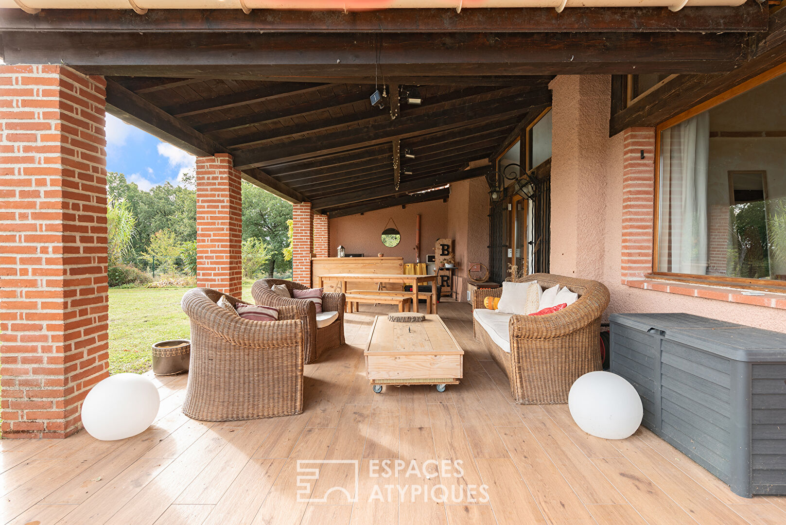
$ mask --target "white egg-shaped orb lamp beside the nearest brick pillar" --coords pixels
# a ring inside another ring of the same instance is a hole
[[[158,389],[145,376],[119,373],[87,393],[82,424],[95,439],[115,441],[145,431],[156,419]]]

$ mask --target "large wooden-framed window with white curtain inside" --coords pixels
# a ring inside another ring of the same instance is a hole
[[[656,128],[652,277],[786,292],[784,73]]]

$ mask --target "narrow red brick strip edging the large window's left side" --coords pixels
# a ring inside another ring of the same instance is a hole
[[[655,128],[623,131],[623,252],[622,281],[636,281],[652,272],[652,231],[655,220]],[[641,158],[644,152],[644,158]]]

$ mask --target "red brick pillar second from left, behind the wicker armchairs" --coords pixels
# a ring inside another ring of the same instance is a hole
[[[196,285],[241,297],[241,172],[229,153],[196,158]]]

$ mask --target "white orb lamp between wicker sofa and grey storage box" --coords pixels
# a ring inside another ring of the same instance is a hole
[[[625,439],[641,424],[644,407],[632,384],[610,372],[579,377],[567,395],[573,420],[587,434],[603,439]]]

